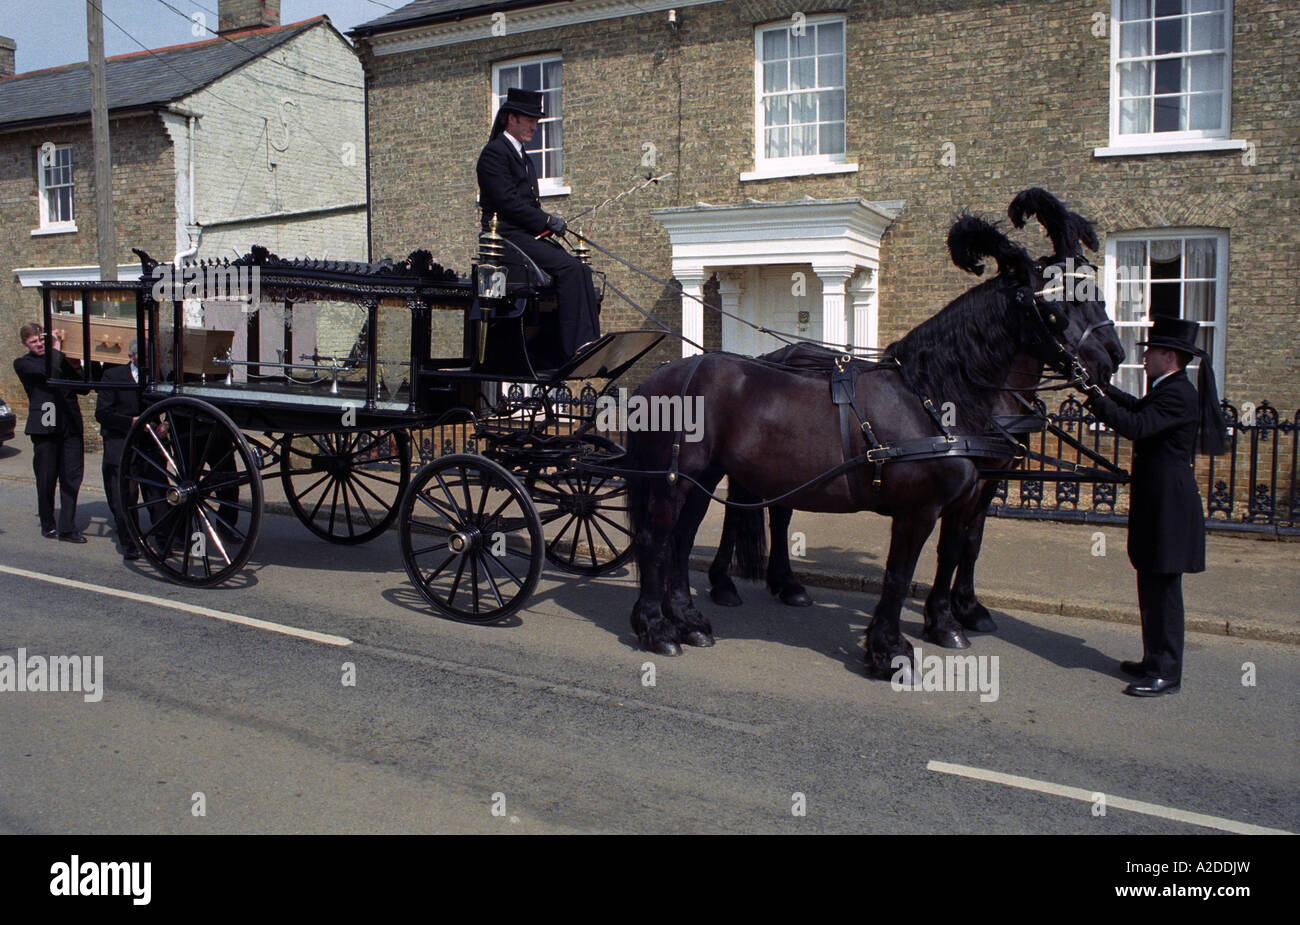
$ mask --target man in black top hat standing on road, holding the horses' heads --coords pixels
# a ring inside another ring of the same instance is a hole
[[[1114,386],[1088,386],[1087,407],[1134,442],[1128,501],[1128,561],[1138,570],[1141,661],[1121,669],[1136,678],[1134,696],[1158,696],[1183,678],[1183,573],[1205,570],[1205,511],[1196,488],[1200,451],[1221,453],[1225,429],[1210,360],[1196,347],[1197,323],[1156,317],[1143,365],[1150,383],[1143,398]],[[1192,356],[1201,359],[1200,394],[1187,378]]]

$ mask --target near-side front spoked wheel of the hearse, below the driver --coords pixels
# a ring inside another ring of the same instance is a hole
[[[416,473],[398,518],[407,576],[436,609],[491,624],[519,609],[542,573],[542,522],[510,470],[455,453]]]

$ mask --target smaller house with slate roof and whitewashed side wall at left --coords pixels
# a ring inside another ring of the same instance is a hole
[[[352,47],[326,17],[281,26],[278,0],[222,0],[220,12],[217,36],[107,61],[120,278],[139,274],[131,248],[164,261],[234,259],[254,243],[363,259],[365,125]],[[0,40],[9,356],[21,352],[18,326],[40,317],[42,279],[99,278],[88,110],[84,62],[14,75],[13,43]],[[25,409],[8,361],[0,394]]]

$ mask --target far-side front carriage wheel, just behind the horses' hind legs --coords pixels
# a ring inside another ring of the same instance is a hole
[[[598,434],[582,440],[604,455],[621,447]],[[546,533],[546,560],[581,576],[598,576],[632,559],[628,483],[614,475],[566,469],[529,474],[528,490]]]

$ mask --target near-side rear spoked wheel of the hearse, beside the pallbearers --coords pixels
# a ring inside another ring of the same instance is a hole
[[[126,434],[118,487],[131,540],[178,585],[207,587],[248,561],[261,529],[257,459],[234,421],[172,398]]]

